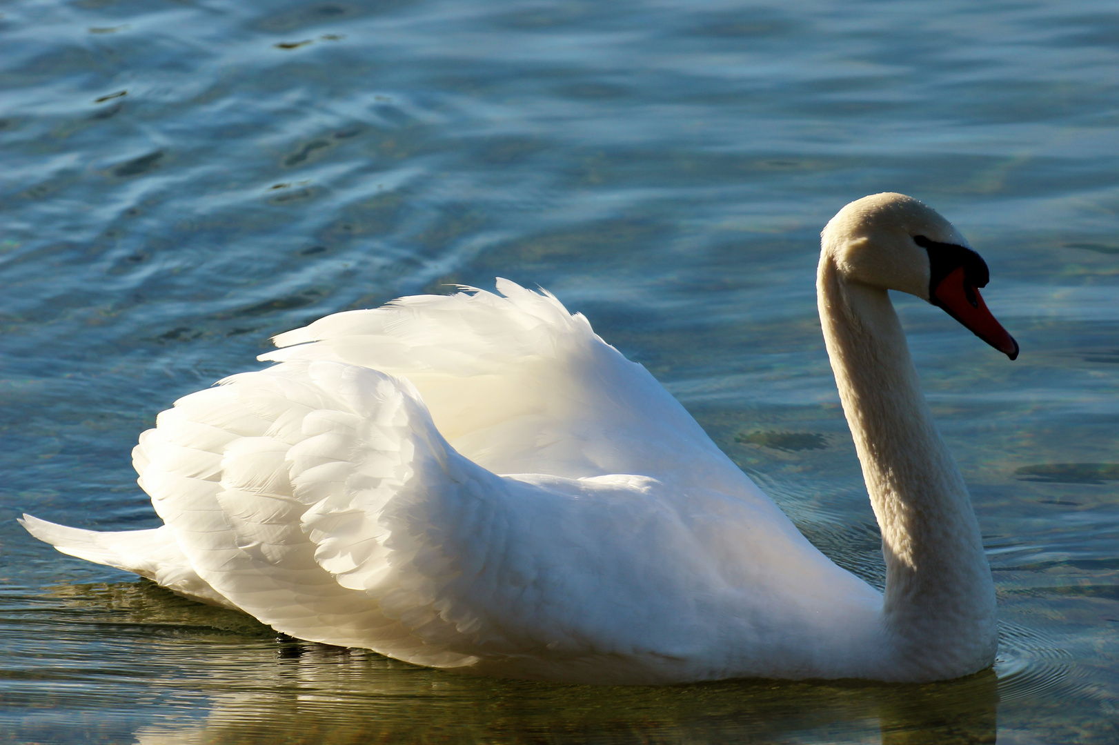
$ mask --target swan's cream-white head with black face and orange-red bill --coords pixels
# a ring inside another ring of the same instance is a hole
[[[875,194],[836,214],[821,234],[846,282],[928,300],[1010,359],[1018,342],[987,310],[987,264],[937,210],[903,194]]]

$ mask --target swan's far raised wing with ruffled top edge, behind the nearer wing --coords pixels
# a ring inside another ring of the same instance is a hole
[[[407,378],[439,431],[495,473],[747,480],[649,372],[548,293],[417,295],[275,338],[265,360],[329,360]],[[765,499],[762,497],[762,499]]]

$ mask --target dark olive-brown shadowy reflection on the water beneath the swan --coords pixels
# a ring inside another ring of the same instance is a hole
[[[181,600],[148,582],[56,586],[39,598],[60,602],[54,615],[69,629],[59,635],[81,634],[97,650],[102,671],[97,691],[58,695],[54,706],[103,708],[147,690],[161,716],[132,733],[144,744],[940,745],[994,743],[996,736],[998,678],[990,670],[927,686],[568,686],[472,678],[276,638],[248,616]]]

